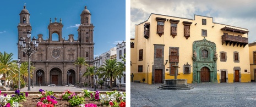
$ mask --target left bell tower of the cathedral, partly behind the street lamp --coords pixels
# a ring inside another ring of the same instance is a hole
[[[18,40],[19,38],[26,38],[28,31],[32,31],[32,27],[30,25],[30,14],[29,11],[26,9],[26,5],[24,5],[23,10],[20,12],[20,22],[18,24]],[[28,43],[28,39],[25,40]],[[28,58],[25,53],[21,52],[18,45],[18,57],[20,57],[21,61],[28,61]]]

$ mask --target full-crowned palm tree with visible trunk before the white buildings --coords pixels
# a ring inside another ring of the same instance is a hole
[[[114,73],[118,70],[117,60],[116,59],[107,59],[104,62],[104,65],[101,65],[99,71],[102,73],[99,75],[100,78],[108,77],[110,78],[110,89],[112,89],[112,81],[115,76]]]

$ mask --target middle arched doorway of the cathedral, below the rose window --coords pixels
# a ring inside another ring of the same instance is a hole
[[[55,84],[57,86],[62,85],[62,73],[63,70],[59,69],[59,67],[53,67],[50,69],[50,84]]]

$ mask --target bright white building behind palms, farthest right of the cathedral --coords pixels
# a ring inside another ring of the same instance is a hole
[[[120,44],[119,43],[117,44],[117,51],[116,52],[117,52],[117,57],[116,57],[117,62],[124,63],[122,61],[122,57],[126,58],[124,56],[124,54],[126,54],[126,42],[125,41],[123,41]],[[125,86],[126,85],[126,71],[123,71],[123,74],[124,74],[124,77],[121,78],[121,85]],[[120,84],[119,78],[116,78],[116,82],[117,82],[117,84]]]

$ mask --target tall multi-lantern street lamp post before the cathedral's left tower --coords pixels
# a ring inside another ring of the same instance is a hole
[[[30,43],[30,37],[31,37],[31,32],[30,31],[28,31],[28,32],[26,32],[27,33],[27,38],[28,38],[28,47],[26,47],[26,42],[25,42],[25,39],[26,39],[26,37],[20,37],[20,39],[19,39],[19,45],[20,45],[20,50],[21,50],[21,52],[24,52],[24,53],[26,53],[27,55],[28,55],[28,57],[29,57],[29,69],[28,69],[28,72],[29,72],[29,86],[28,86],[28,91],[30,91],[30,57],[31,57],[31,55],[33,54],[33,53],[35,53],[36,52],[36,50],[37,50],[37,47],[38,47],[38,45],[39,45],[39,42],[38,41],[36,41],[36,38],[35,37],[33,37],[32,38],[32,46],[34,46],[34,47],[31,47],[31,43]]]

